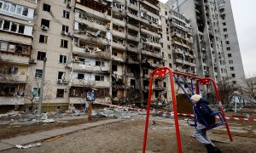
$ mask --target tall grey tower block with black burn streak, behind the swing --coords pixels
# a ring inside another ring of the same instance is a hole
[[[169,0],[170,8],[191,20],[199,77],[242,84],[244,71],[230,0]],[[238,83],[239,82],[239,83]]]

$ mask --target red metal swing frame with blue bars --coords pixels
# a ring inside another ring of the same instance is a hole
[[[206,130],[210,130],[214,127],[218,127],[220,125],[224,125],[227,128],[227,132],[230,138],[230,141],[232,141],[232,136],[230,133],[230,127],[228,125],[228,122],[225,119],[224,115],[224,109],[218,94],[218,89],[216,86],[216,83],[212,80],[212,78],[201,78],[201,77],[195,77],[191,76],[185,73],[172,71],[169,67],[160,67],[152,71],[150,75],[150,82],[149,82],[149,89],[148,89],[148,107],[147,107],[147,116],[146,116],[146,122],[145,122],[145,131],[144,131],[144,139],[143,139],[143,153],[145,153],[146,150],[146,144],[147,144],[147,136],[148,136],[148,119],[149,119],[149,110],[150,110],[150,102],[151,102],[151,94],[152,94],[152,85],[154,78],[160,78],[160,77],[166,77],[166,75],[169,75],[170,77],[170,84],[171,84],[171,94],[172,94],[172,107],[173,107],[173,113],[174,113],[174,122],[175,122],[175,130],[176,130],[176,139],[177,139],[177,150],[179,153],[182,153],[182,147],[181,147],[181,139],[180,139],[180,133],[179,133],[179,127],[178,127],[178,120],[177,120],[177,100],[176,100],[176,94],[175,94],[175,84],[174,79],[177,82],[177,85],[182,88],[184,95],[189,99],[189,102],[191,105],[193,105],[194,115],[195,115],[195,128],[197,117],[201,117],[202,121],[206,123]],[[220,119],[220,122],[214,124],[214,125],[208,125],[207,122],[203,119],[199,111],[195,108],[195,105],[192,103],[189,94],[187,94],[186,90],[183,88],[182,84],[179,82],[178,77],[181,77],[183,82],[186,84],[186,86],[189,88],[190,92],[194,94],[194,90],[196,91],[196,94],[200,94],[200,85],[209,85],[212,82],[213,88],[215,90],[216,97],[218,99],[218,105],[219,110],[217,112],[212,113],[212,116],[218,116]],[[186,81],[187,79],[185,77],[189,77],[191,80],[191,83]],[[174,78],[174,79],[173,79]],[[195,88],[193,84],[193,80],[195,81]],[[196,113],[195,113],[196,112]],[[198,116],[196,116],[196,114]]]

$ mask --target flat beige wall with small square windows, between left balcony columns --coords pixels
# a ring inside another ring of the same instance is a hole
[[[47,58],[45,62],[45,85],[44,94],[47,97],[43,101],[44,103],[64,103],[68,104],[68,90],[67,83],[58,83],[59,71],[65,72],[65,80],[70,82],[70,70],[65,66],[70,60],[70,53],[72,50],[71,37],[61,35],[62,26],[68,26],[68,31],[73,33],[73,8],[67,8],[67,3],[64,1],[39,1],[37,8],[37,17],[35,21],[34,31],[33,31],[33,42],[32,42],[32,55],[31,59],[33,62],[29,66],[29,77],[27,80],[26,91],[32,90],[32,88],[40,87],[41,79],[35,77],[36,69],[43,70],[44,57],[38,58],[38,52],[43,52],[46,54]],[[50,10],[44,8],[44,4],[50,6]],[[74,5],[74,1],[71,2]],[[63,10],[69,12],[69,19],[63,17]],[[49,20],[49,27],[44,30],[42,24],[46,26],[47,24],[42,23],[42,19]],[[47,38],[40,38],[40,35],[47,36]],[[61,39],[67,40],[67,48],[61,48]],[[46,41],[47,42],[44,42]],[[60,55],[67,56],[66,63],[60,62]],[[57,89],[65,90],[63,96],[56,97]],[[29,101],[26,101],[30,103]],[[57,105],[56,105],[57,106]]]

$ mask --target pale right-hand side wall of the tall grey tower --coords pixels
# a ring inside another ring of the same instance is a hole
[[[218,3],[218,12],[220,14],[218,17],[218,21],[222,34],[221,37],[224,48],[224,56],[226,59],[228,77],[230,77],[230,80],[232,82],[235,81],[237,82],[237,84],[242,84],[242,80],[244,79],[245,74],[241,61],[241,53],[236,34],[236,26],[233,17],[231,2],[230,0],[225,0],[224,6],[222,6],[223,1],[221,0],[215,1],[215,3]],[[224,31],[225,28],[227,29],[227,31]],[[228,37],[226,38],[225,35],[227,35]],[[229,44],[227,44],[227,42],[229,42]],[[230,50],[228,50],[228,48],[230,48]],[[229,54],[231,54],[232,57],[230,57]],[[235,75],[235,77],[233,75]]]

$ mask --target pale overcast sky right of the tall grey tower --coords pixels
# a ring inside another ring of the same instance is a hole
[[[160,0],[166,3],[167,0]],[[256,0],[230,0],[246,77],[256,74]]]

